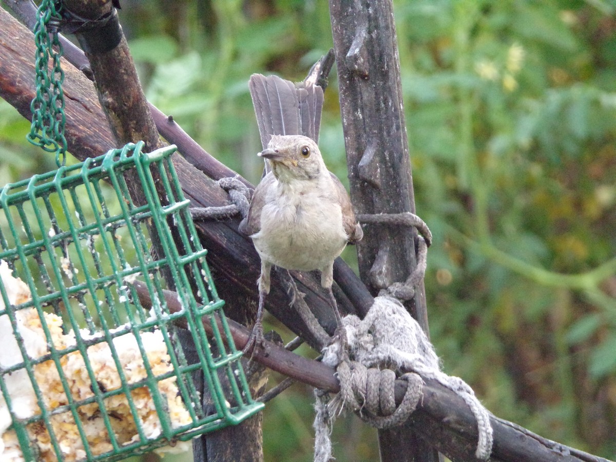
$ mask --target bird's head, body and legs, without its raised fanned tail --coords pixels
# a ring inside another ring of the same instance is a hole
[[[314,140],[301,135],[274,135],[259,153],[269,164],[254,190],[248,216],[240,232],[252,238],[261,257],[259,309],[245,352],[261,346],[263,305],[270,290],[270,270],[320,270],[321,285],[329,293],[340,325],[340,314],[331,291],[333,264],[347,243],[363,237],[355,220],[351,199],[340,180],[328,171]]]

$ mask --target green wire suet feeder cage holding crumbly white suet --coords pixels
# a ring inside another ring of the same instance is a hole
[[[15,460],[120,460],[263,406],[249,394],[171,163],[175,147],[142,146],[0,193],[0,459],[4,450]],[[145,205],[133,202],[128,175]],[[182,309],[169,309],[164,290]]]

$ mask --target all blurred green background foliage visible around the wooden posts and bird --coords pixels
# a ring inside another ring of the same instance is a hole
[[[616,7],[394,6],[417,210],[434,234],[431,336],[445,371],[496,415],[615,458]],[[129,3],[121,21],[148,99],[253,182],[262,164],[249,75],[299,80],[332,46],[325,0]],[[21,125],[0,105],[0,179],[46,159],[30,154]],[[320,144],[344,180],[335,72]],[[296,386],[268,404],[267,460],[310,459],[310,402]],[[353,416],[333,439],[338,460],[376,458],[374,432]]]

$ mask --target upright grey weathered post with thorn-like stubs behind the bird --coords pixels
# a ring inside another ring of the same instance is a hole
[[[351,197],[359,214],[415,213],[391,0],[330,0]],[[407,280],[416,265],[413,229],[366,225],[357,246],[371,293]],[[428,334],[423,282],[405,303]],[[381,459],[435,461],[410,421],[379,431]]]

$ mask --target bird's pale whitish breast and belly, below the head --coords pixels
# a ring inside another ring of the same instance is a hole
[[[302,271],[331,264],[347,243],[340,205],[325,193],[332,188],[329,173],[312,180],[277,181],[261,211],[261,230],[252,236],[261,258]]]

